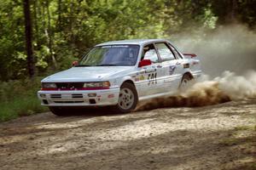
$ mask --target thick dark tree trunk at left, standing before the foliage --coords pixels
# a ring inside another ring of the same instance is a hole
[[[26,35],[26,54],[27,54],[27,70],[30,78],[35,75],[35,64],[32,51],[32,21],[30,17],[29,0],[23,1],[24,16],[25,16],[25,35]]]

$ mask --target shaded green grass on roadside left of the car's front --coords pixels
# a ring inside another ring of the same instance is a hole
[[[0,122],[48,111],[37,97],[40,79],[0,82]]]

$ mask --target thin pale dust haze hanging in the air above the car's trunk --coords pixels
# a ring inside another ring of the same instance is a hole
[[[201,68],[210,77],[218,77],[224,71],[242,75],[256,70],[256,33],[246,26],[222,26],[211,33],[185,32],[173,39],[183,53],[200,57]]]

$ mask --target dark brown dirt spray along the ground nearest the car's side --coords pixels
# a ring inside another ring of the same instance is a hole
[[[139,103],[136,111],[165,107],[199,107],[230,101],[230,97],[218,88],[218,82],[198,82],[183,94],[156,98]]]

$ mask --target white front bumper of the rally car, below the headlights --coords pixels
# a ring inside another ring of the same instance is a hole
[[[41,105],[46,106],[94,106],[116,105],[119,88],[103,90],[38,91]]]

